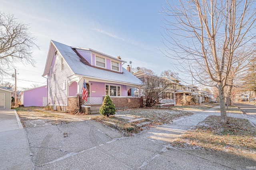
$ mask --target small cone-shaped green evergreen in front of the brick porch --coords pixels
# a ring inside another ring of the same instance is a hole
[[[112,100],[110,99],[110,97],[108,95],[105,96],[105,98],[103,100],[103,104],[102,104],[102,106],[100,106],[100,114],[102,114],[104,116],[106,115],[107,117],[109,115],[116,114],[115,105],[112,103]]]

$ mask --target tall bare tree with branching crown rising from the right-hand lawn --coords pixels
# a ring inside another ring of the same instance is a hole
[[[179,3],[178,3],[179,2]],[[227,123],[224,87],[232,65],[240,61],[234,53],[255,39],[254,0],[188,0],[167,2],[163,53],[177,59],[182,71],[202,84],[216,84],[221,121]],[[177,5],[176,5],[177,4]]]

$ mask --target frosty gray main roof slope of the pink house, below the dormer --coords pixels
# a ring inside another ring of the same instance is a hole
[[[74,52],[72,47],[64,45],[62,43],[58,43],[56,41],[52,41],[52,43],[54,43],[64,60],[68,63],[68,65],[74,72],[74,74],[90,76],[93,78],[110,81],[124,82],[129,84],[142,84],[142,82],[137,77],[132,75],[132,73],[128,72],[124,67],[122,68],[122,74],[94,68],[90,65],[82,63],[80,57]]]

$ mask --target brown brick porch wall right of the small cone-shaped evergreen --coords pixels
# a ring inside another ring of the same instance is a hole
[[[103,96],[104,100],[105,96]],[[116,109],[131,109],[143,107],[143,99],[140,97],[116,97],[110,96]]]

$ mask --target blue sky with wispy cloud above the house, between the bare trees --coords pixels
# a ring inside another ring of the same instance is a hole
[[[0,0],[2,12],[30,24],[40,46],[33,53],[36,68],[16,64],[18,88],[46,84],[42,74],[50,40],[113,57],[120,55],[127,64],[132,61],[132,67],[146,67],[158,75],[173,70],[172,60],[158,50],[163,47],[160,11],[164,3],[165,0]],[[13,79],[4,81],[14,83]]]

